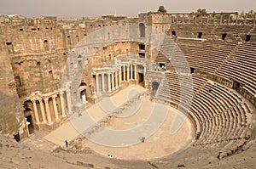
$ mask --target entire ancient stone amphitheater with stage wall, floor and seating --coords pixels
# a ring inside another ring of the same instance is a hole
[[[255,168],[254,15],[0,15],[0,168]]]

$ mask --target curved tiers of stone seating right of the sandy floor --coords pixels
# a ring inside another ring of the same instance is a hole
[[[177,44],[190,67],[241,82],[255,97],[256,44],[185,38],[177,39]],[[155,61],[164,60],[163,57],[159,54]],[[155,99],[182,107],[193,117],[196,139],[192,147],[214,148],[218,158],[223,158],[247,144],[253,132],[254,107],[241,93],[200,73],[166,70],[165,75],[166,82]],[[189,85],[192,91],[186,91]]]

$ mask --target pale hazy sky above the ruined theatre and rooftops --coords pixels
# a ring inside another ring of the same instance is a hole
[[[207,12],[256,10],[256,0],[0,0],[0,14],[59,18],[106,14],[135,16],[156,11],[160,5],[164,5],[168,13],[193,12],[197,8],[206,8]]]

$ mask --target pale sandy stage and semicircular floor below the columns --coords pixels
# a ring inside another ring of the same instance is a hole
[[[131,103],[129,109],[125,109],[125,113],[112,118],[104,126],[107,130],[127,133],[124,138],[118,134],[111,135],[109,132],[97,131],[83,142],[83,147],[89,147],[100,155],[113,155],[113,158],[117,159],[151,160],[171,155],[188,146],[193,141],[193,126],[189,119],[185,118],[182,127],[176,133],[171,134],[170,128],[175,115],[183,116],[183,114],[169,106],[159,104],[154,110],[156,104],[149,101],[145,92],[146,89],[140,86],[127,87],[113,95],[107,102],[103,100],[99,104],[94,104],[83,112],[81,117],[74,116],[72,121],[50,132],[44,139],[63,146],[66,139],[72,140],[78,137],[80,132],[92,126],[89,118],[93,121],[101,121],[113,110],[127,103],[127,100],[136,98],[137,93],[144,93],[140,99]],[[157,116],[154,117],[154,115]],[[163,119],[157,119],[159,116]],[[144,143],[141,140],[142,136],[146,136]],[[119,143],[124,144],[120,146]]]

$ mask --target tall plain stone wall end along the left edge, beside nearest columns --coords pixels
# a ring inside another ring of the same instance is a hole
[[[15,77],[10,58],[3,42],[3,31],[0,29],[0,133],[13,135],[20,132],[26,137],[20,101],[15,87]]]

